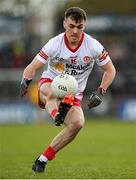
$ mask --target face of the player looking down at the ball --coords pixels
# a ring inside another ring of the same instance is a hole
[[[79,22],[75,22],[69,17],[64,21],[64,28],[66,30],[69,43],[78,43],[81,39],[82,32],[85,29],[85,21],[81,20]]]

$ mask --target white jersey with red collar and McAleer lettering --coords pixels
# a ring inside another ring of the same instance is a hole
[[[104,47],[86,33],[82,33],[75,49],[69,47],[66,34],[61,33],[50,39],[36,58],[44,64],[48,63],[47,70],[42,74],[43,78],[54,79],[61,73],[74,76],[78,82],[76,97],[80,100],[95,61],[98,66],[103,66],[110,60]]]

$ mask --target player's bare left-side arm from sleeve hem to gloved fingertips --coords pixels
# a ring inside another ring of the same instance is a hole
[[[33,61],[24,69],[23,77],[20,85],[20,96],[24,96],[27,93],[29,84],[32,78],[35,76],[37,70],[45,64],[34,58]]]

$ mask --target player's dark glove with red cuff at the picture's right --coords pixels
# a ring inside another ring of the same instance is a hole
[[[101,96],[103,96],[105,93],[106,91],[101,87],[99,87],[97,91],[92,92],[89,98],[89,103],[88,103],[89,109],[99,106],[102,102]]]

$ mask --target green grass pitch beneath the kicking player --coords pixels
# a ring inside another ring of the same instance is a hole
[[[133,179],[136,178],[136,124],[87,121],[77,138],[46,173],[31,166],[62,127],[51,123],[0,126],[0,179]]]

